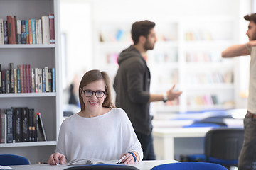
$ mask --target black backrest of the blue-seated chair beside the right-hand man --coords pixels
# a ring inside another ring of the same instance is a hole
[[[223,160],[237,160],[242,148],[244,130],[242,128],[213,129],[206,133],[206,159],[214,157]]]

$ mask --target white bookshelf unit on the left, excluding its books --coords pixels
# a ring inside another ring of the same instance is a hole
[[[28,107],[40,112],[46,130],[46,142],[1,143],[0,154],[18,154],[27,157],[32,164],[47,162],[55,152],[60,123],[63,120],[61,57],[59,43],[59,0],[2,0],[0,18],[7,15],[18,19],[39,19],[41,16],[55,16],[55,44],[43,45],[0,45],[1,69],[9,69],[9,63],[30,64],[33,68],[55,68],[56,92],[0,94],[0,108]]]

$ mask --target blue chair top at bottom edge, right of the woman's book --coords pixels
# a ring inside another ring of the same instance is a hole
[[[154,166],[151,170],[227,170],[220,164],[207,162],[178,162]]]

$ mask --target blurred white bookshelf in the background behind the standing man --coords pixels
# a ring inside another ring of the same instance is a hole
[[[146,56],[151,70],[151,93],[163,93],[176,84],[183,94],[179,101],[151,103],[151,111],[235,108],[235,60],[223,59],[221,52],[238,40],[236,18],[196,16],[152,21],[156,23],[158,41]],[[132,44],[128,38],[132,23],[96,23],[95,62],[110,74],[112,81],[118,68],[117,55]]]

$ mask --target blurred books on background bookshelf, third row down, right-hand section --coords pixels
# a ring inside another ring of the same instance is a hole
[[[191,74],[187,77],[188,84],[220,84],[220,83],[233,83],[233,72],[213,72],[213,73],[200,73]]]

